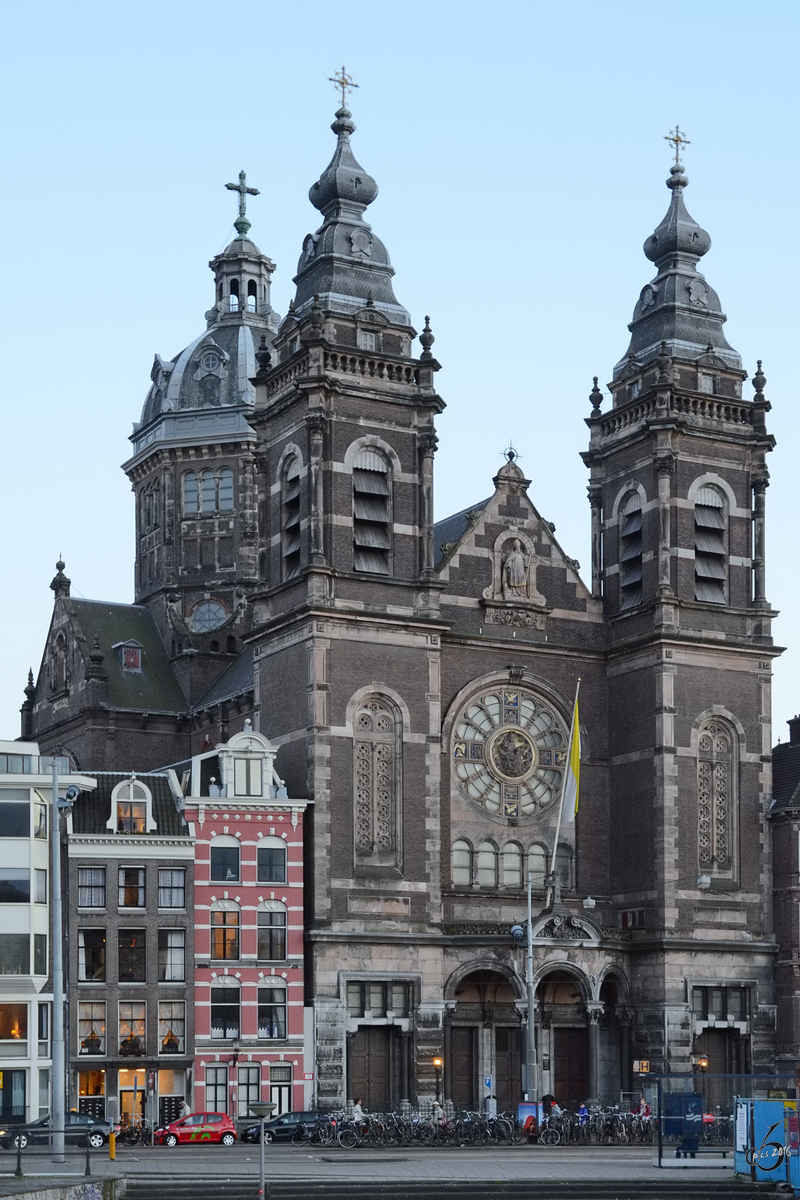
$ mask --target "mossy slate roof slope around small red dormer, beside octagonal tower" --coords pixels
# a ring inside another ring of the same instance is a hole
[[[74,620],[91,646],[95,634],[108,672],[108,701],[113,708],[149,713],[185,713],[186,698],[167,656],[156,623],[148,608],[102,600],[67,600]],[[142,646],[142,671],[124,671],[119,642]]]

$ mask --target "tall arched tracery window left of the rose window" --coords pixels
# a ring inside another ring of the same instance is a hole
[[[389,701],[373,696],[361,704],[354,738],[356,865],[398,863],[401,738],[399,716]]]

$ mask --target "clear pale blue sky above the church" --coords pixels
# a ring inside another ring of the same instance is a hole
[[[777,437],[768,493],[776,638],[800,641],[795,528],[795,2],[703,0],[302,5],[6,4],[0,736],[16,736],[64,553],[74,594],[132,599],[133,506],[119,469],[155,352],[205,328],[207,262],[233,236],[224,190],[261,194],[252,236],[285,312],[309,185],[333,149],[344,62],[354,150],[396,290],[431,314],[447,409],[439,516],[481,499],[512,438],[531,498],[588,565],[591,377],[610,378],[691,138],[686,202],[728,338],[764,360]],[[775,732],[800,709],[796,649]]]

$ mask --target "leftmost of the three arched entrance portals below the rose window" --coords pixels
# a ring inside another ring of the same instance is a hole
[[[475,970],[456,984],[453,998],[445,1024],[446,1098],[456,1109],[479,1108],[489,1096],[500,1109],[516,1105],[522,1039],[513,985],[499,971]]]

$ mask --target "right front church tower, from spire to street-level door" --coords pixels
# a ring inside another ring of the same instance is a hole
[[[634,1000],[648,997],[636,1057],[675,1070],[706,1054],[712,1072],[758,1070],[774,1052],[774,439],[760,362],[742,395],[746,372],[698,271],[711,239],[686,210],[687,184],[676,155],[612,409],[595,380],[588,419],[593,592],[610,640],[609,890],[632,938]]]

